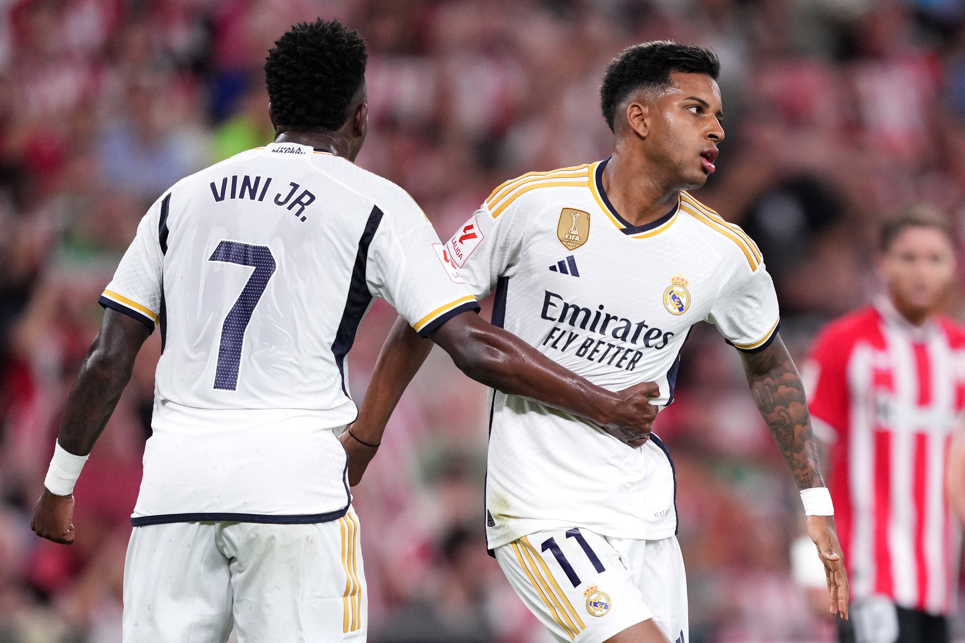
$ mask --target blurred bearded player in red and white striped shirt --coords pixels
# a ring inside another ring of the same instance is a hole
[[[830,324],[802,370],[854,590],[842,643],[948,643],[965,496],[952,436],[965,408],[965,329],[940,314],[955,274],[944,217],[914,206],[881,231],[887,290]],[[958,475],[949,476],[946,469]],[[958,493],[958,494],[956,494]]]

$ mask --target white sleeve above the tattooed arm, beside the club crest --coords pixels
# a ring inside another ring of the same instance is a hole
[[[780,328],[778,297],[763,264],[752,270],[737,262],[706,321],[737,349],[756,353],[767,348]]]

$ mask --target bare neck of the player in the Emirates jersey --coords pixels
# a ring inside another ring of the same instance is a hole
[[[646,226],[666,215],[680,194],[660,178],[651,168],[614,151],[603,168],[603,189],[627,223],[634,227]]]

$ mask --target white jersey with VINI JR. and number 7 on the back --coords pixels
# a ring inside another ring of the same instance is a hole
[[[435,246],[435,248],[433,248]],[[135,526],[345,514],[345,355],[381,297],[423,335],[476,302],[398,186],[272,144],[180,180],[100,304],[159,326]]]

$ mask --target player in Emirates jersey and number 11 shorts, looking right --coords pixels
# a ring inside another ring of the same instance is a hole
[[[708,321],[739,351],[754,399],[801,491],[826,567],[831,610],[847,580],[818,470],[801,379],[778,335],[778,304],[758,248],[687,194],[714,171],[724,139],[719,63],[675,42],[623,51],[607,69],[603,161],[525,174],[498,187],[446,244],[493,323],[605,388],[653,382],[674,398],[679,350]],[[377,442],[429,346],[398,323],[359,420]],[[620,442],[579,417],[496,391],[485,521],[489,549],[559,641],[689,640],[676,542],[676,479],[655,436]],[[364,462],[353,464],[350,480]]]

